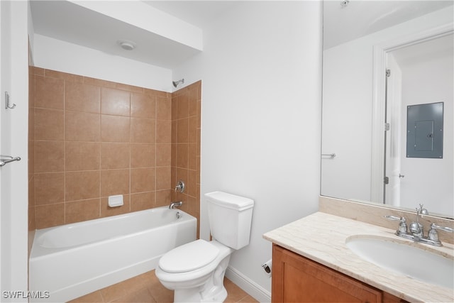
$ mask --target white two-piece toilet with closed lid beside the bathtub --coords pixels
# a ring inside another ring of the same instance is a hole
[[[196,240],[170,250],[155,273],[175,290],[174,302],[223,302],[230,255],[249,244],[254,201],[225,192],[205,194],[212,241]]]

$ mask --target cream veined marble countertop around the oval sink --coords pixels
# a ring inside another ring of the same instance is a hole
[[[384,237],[391,241],[406,241],[454,259],[454,246],[450,243],[443,243],[442,247],[428,246],[400,238],[394,233],[395,230],[389,228],[316,212],[267,232],[263,238],[406,301],[454,302],[453,289],[380,268],[355,255],[345,244],[345,240],[351,236]]]

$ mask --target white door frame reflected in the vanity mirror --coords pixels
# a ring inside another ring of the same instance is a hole
[[[373,47],[371,201],[383,202],[384,199],[384,98],[386,97],[387,53],[452,33],[454,33],[454,28],[453,23],[450,22],[420,33],[389,40]]]

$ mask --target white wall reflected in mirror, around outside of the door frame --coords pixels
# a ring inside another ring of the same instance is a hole
[[[323,50],[323,195],[370,201],[373,46],[452,21],[450,6]]]

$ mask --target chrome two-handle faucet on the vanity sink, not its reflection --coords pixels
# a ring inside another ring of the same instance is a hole
[[[443,246],[441,244],[441,241],[438,239],[437,229],[454,233],[454,228],[438,226],[432,223],[431,229],[428,231],[427,236],[425,237],[423,225],[419,223],[419,216],[423,214],[428,214],[428,211],[427,209],[423,209],[423,204],[419,204],[419,207],[416,207],[416,221],[411,222],[410,224],[410,233],[406,229],[406,219],[404,217],[399,218],[398,216],[384,216],[384,219],[400,221],[399,228],[397,228],[397,231],[395,233],[396,236],[433,246]]]

